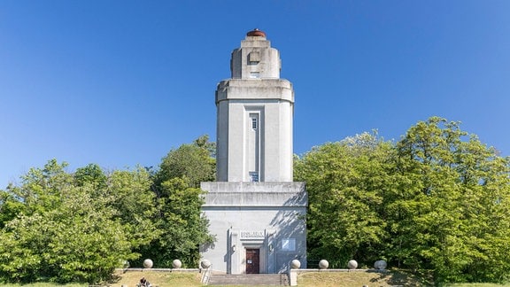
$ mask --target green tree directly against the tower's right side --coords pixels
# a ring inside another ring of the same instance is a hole
[[[390,143],[376,133],[325,143],[295,163],[307,184],[309,257],[345,268],[348,260],[378,260],[387,239],[383,191],[390,185]]]

